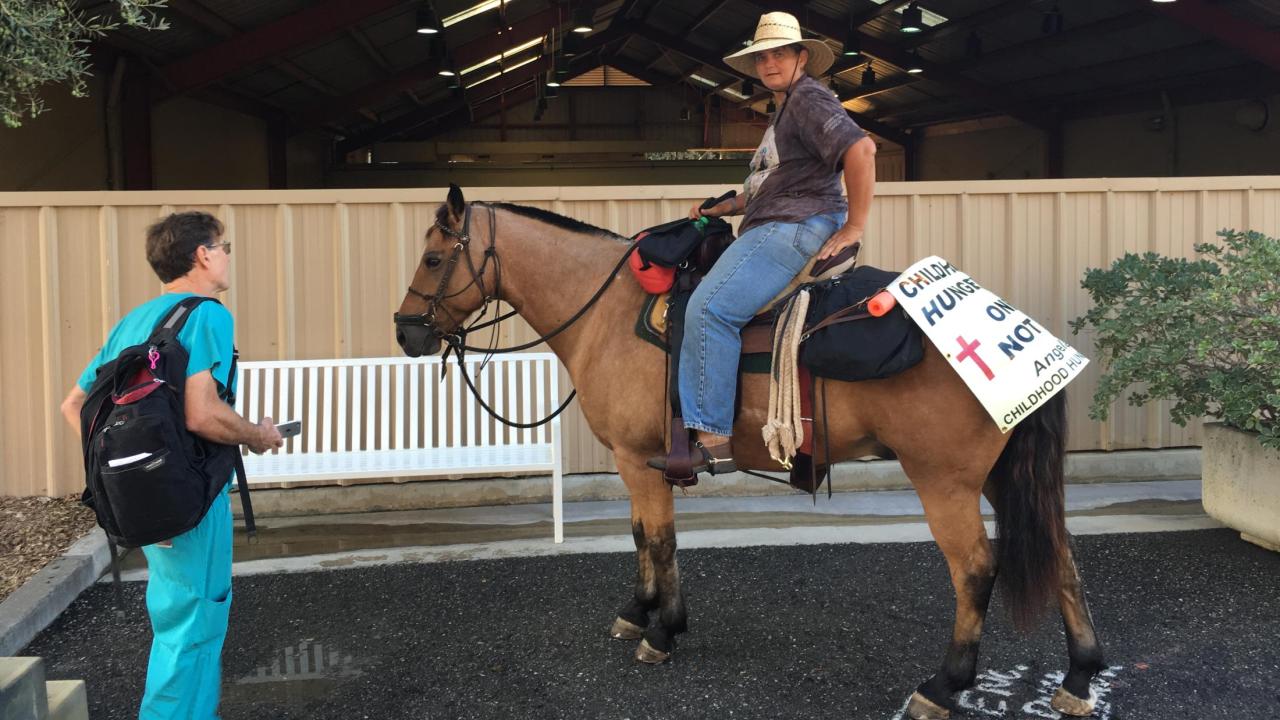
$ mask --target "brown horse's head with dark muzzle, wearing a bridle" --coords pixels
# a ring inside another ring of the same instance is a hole
[[[396,313],[396,341],[410,357],[434,355],[444,338],[468,315],[494,299],[495,273],[485,278],[493,258],[493,217],[485,220],[489,242],[472,242],[475,224],[462,190],[449,184],[449,195],[426,231],[422,260]]]

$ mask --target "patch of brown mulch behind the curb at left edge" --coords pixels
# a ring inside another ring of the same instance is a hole
[[[78,495],[0,497],[0,601],[92,528]]]

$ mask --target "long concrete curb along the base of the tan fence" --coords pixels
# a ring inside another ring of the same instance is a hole
[[[910,487],[896,460],[841,462],[835,469],[836,492],[906,489]],[[777,474],[778,478],[783,475]],[[1188,480],[1201,477],[1198,447],[1130,450],[1119,452],[1073,452],[1066,456],[1068,483]],[[253,512],[264,518],[282,515],[329,515],[387,510],[431,510],[550,502],[550,475],[531,478],[483,478],[374,483],[253,491]],[[758,497],[795,495],[788,486],[742,473],[703,478],[689,493],[699,497]],[[564,501],[626,500],[626,487],[617,473],[564,477]],[[239,516],[239,498],[232,495]]]

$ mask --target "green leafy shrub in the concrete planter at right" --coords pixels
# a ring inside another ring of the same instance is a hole
[[[1280,447],[1280,241],[1221,231],[1199,260],[1126,254],[1084,273],[1093,307],[1071,322],[1092,329],[1105,372],[1091,415],[1171,400],[1179,425],[1212,416]]]

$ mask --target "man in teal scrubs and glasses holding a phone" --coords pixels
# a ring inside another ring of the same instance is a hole
[[[147,229],[147,261],[164,293],[127,314],[90,361],[63,401],[61,411],[79,433],[81,407],[97,369],[122,350],[145,342],[184,297],[214,297],[230,287],[230,243],[223,224],[207,213],[177,213]],[[223,397],[234,392],[230,375],[234,320],[218,302],[202,302],[178,333],[189,354],[184,414],[187,429],[253,452],[280,447],[270,418],[259,424],[236,414]],[[218,716],[221,652],[232,602],[230,477],[193,529],[142,548],[150,569],[147,614],[154,639],[141,720],[207,720]]]

